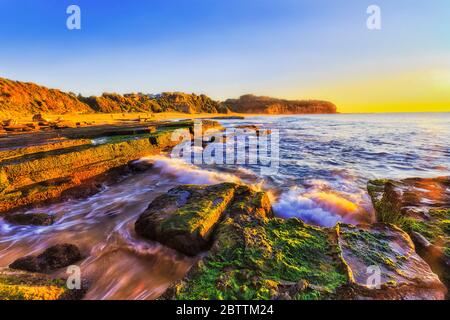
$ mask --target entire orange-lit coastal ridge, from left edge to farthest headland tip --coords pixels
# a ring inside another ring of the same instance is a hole
[[[125,113],[125,112],[182,112],[182,113],[261,113],[301,114],[336,113],[331,102],[318,100],[289,101],[269,97],[245,95],[222,103],[206,95],[182,92],[104,93],[83,97],[48,89],[34,83],[0,78],[0,119],[35,114],[66,113]]]

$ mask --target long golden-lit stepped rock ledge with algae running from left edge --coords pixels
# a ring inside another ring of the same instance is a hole
[[[179,127],[192,130],[193,125],[186,121]],[[221,128],[215,121],[208,122],[207,127]],[[77,130],[82,138],[111,130],[94,129]],[[134,129],[126,130],[134,133]],[[64,197],[91,195],[99,190],[99,184],[127,173],[129,162],[175,146],[179,141],[172,140],[173,130],[161,124],[156,132],[108,137],[102,144],[77,140],[73,145],[52,143],[48,150],[44,145],[16,149],[13,155],[0,159],[0,213]]]

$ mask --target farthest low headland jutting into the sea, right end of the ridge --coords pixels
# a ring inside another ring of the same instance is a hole
[[[224,105],[237,113],[256,114],[308,114],[336,113],[336,106],[320,100],[283,100],[270,97],[244,95],[239,99],[228,99]]]

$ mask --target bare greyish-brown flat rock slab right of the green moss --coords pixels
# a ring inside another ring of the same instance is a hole
[[[415,252],[408,234],[386,224],[337,226],[359,299],[444,299],[446,288]]]

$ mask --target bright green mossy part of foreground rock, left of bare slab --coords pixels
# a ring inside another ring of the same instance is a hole
[[[323,299],[347,282],[329,233],[298,219],[236,216],[171,299]],[[303,283],[302,285],[299,285]]]

